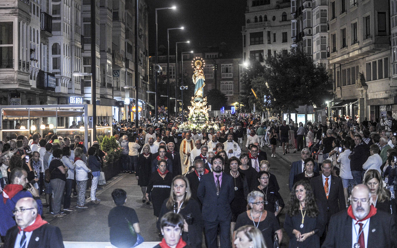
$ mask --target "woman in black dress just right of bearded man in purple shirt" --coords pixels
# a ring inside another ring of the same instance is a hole
[[[249,193],[247,179],[244,174],[239,172],[240,160],[233,156],[229,158],[230,175],[234,181],[234,199],[230,204],[231,208],[231,225],[230,233],[233,235],[234,225],[236,224],[237,216],[247,210],[247,196]]]

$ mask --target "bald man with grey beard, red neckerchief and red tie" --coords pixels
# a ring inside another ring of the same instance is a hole
[[[370,197],[370,189],[366,185],[359,184],[353,188],[351,206],[331,217],[322,248],[391,248],[397,245],[394,218],[377,211]]]

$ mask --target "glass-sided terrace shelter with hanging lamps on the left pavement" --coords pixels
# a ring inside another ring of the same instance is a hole
[[[101,116],[112,117],[112,110],[104,111],[104,108],[99,106],[97,113]],[[68,137],[71,141],[74,140],[74,135],[80,135],[84,140],[85,147],[90,147],[94,141],[93,127],[89,127],[89,119],[92,119],[91,104],[60,104],[60,105],[0,105],[1,122],[1,139],[8,141],[15,135],[28,136],[35,132],[39,132],[43,137],[49,131],[62,137]],[[103,112],[103,113],[102,113]],[[84,123],[81,127],[68,128],[71,121],[81,120]],[[11,124],[20,123],[21,127],[15,129]],[[96,127],[96,140],[102,136],[112,136],[112,126]]]

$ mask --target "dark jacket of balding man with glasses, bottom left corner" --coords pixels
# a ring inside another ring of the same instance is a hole
[[[19,233],[18,226],[8,229],[4,247],[14,247],[15,239]],[[45,224],[33,231],[27,248],[46,247],[46,248],[62,248],[64,241],[59,227]]]

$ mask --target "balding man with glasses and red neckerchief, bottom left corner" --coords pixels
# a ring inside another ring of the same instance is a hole
[[[8,229],[4,247],[64,247],[61,230],[51,226],[37,213],[37,202],[31,197],[21,198],[15,204],[16,226]]]

